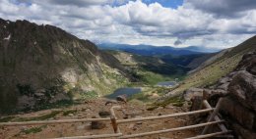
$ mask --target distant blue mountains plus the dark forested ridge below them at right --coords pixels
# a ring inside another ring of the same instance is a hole
[[[122,51],[140,56],[156,57],[166,64],[176,67],[184,67],[190,70],[196,69],[203,62],[216,54],[213,53],[213,49],[198,46],[174,48],[170,46],[102,43],[98,44],[98,47],[101,50]],[[217,51],[217,49],[215,50]]]

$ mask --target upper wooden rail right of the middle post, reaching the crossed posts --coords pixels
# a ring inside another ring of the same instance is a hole
[[[213,109],[205,109],[205,110],[199,110],[199,111],[193,111],[193,112],[187,112],[187,113],[178,113],[178,114],[165,115],[165,116],[148,116],[148,117],[131,118],[131,119],[120,119],[120,120],[117,120],[116,122],[117,123],[127,123],[127,122],[152,120],[152,119],[160,119],[160,118],[175,117],[175,116],[189,116],[189,115],[212,112],[214,110],[215,109],[213,108]]]

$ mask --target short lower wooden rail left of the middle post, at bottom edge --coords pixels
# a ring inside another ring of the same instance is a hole
[[[52,138],[52,139],[96,139],[96,138],[110,138],[122,136],[122,133],[116,134],[101,134],[101,135],[90,135],[90,136],[74,136],[74,137],[63,137],[63,138]]]

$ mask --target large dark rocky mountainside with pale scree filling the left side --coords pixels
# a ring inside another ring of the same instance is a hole
[[[0,113],[100,96],[128,81],[123,72],[113,56],[58,27],[0,19]]]

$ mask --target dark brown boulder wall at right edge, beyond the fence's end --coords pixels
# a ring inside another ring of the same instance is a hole
[[[238,137],[256,138],[256,52],[244,55],[232,72],[221,113]]]

